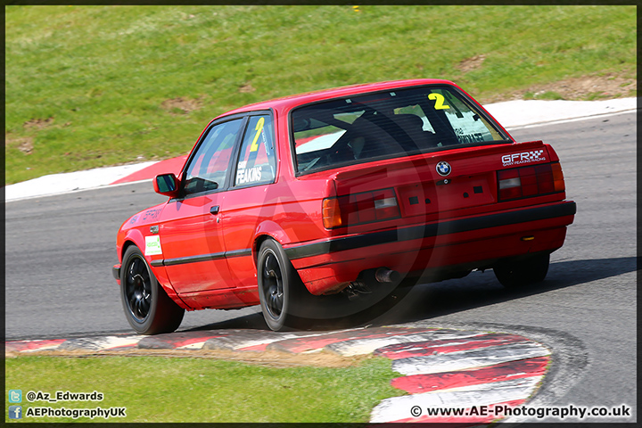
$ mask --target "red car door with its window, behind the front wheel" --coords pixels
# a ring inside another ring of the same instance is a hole
[[[181,197],[163,210],[159,233],[164,265],[178,294],[235,286],[218,214],[244,121],[218,122],[203,133],[181,177]]]

